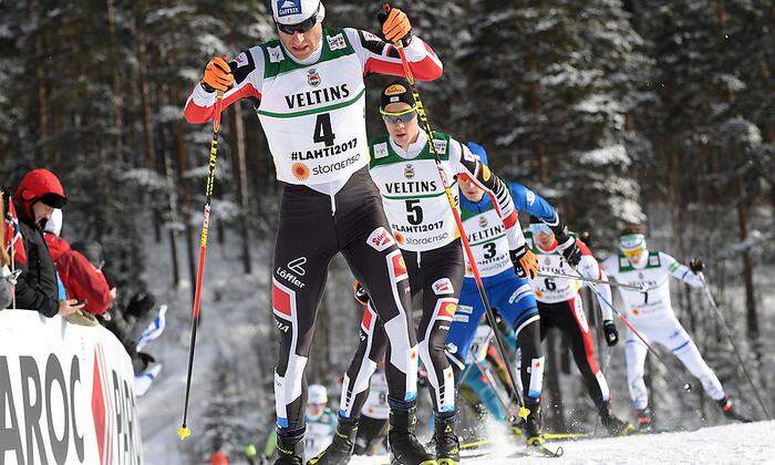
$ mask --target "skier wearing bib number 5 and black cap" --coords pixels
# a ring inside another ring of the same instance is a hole
[[[454,372],[444,353],[444,344],[457,307],[464,275],[463,247],[444,184],[431,152],[434,144],[446,179],[457,178],[482,189],[493,198],[494,221],[500,228],[512,272],[526,273],[535,258],[526,252],[519,218],[507,186],[477,156],[452,138],[435,132],[433,141],[420,127],[417,108],[409,82],[396,80],[381,93],[380,113],[388,135],[370,143],[371,175],[382,194],[395,240],[404,262],[396,264],[409,276],[412,296],[422,297],[423,314],[417,329],[420,358],[427,371],[435,425],[435,455],[438,464],[459,461],[459,442],[454,432]],[[457,183],[451,189],[457,197]],[[371,294],[371,289],[366,288]],[[390,322],[374,314],[380,302],[366,309],[361,323],[361,343],[348,369],[342,386],[339,430],[331,446],[319,457],[320,464],[347,463],[352,454],[352,431],[369,392],[369,379],[386,345]],[[383,324],[384,323],[384,324]],[[391,417],[391,432],[400,426]],[[430,457],[428,457],[430,459]]]

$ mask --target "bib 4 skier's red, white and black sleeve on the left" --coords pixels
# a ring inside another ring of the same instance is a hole
[[[261,102],[261,85],[264,83],[264,52],[256,46],[237,55],[229,63],[231,75],[234,75],[234,86],[224,93],[221,107],[226,108],[240,99],[252,100],[254,106],[258,107]],[[188,100],[183,114],[186,121],[192,124],[207,123],[215,116],[215,91],[206,89],[198,82]]]

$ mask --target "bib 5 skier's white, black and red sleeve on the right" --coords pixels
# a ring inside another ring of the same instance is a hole
[[[431,141],[433,143],[433,141]],[[525,246],[525,235],[519,227],[519,216],[508,192],[506,183],[500,180],[487,165],[483,164],[478,156],[468,147],[455,140],[450,140],[450,162],[457,170],[457,176],[469,179],[484,189],[493,202],[500,221],[506,227],[506,238],[509,250],[516,250]]]

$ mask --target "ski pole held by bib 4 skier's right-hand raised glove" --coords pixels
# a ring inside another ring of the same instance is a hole
[[[382,11],[380,12],[380,14],[384,16],[384,18],[386,19],[386,14],[390,12],[390,4],[384,3],[382,6]],[[433,143],[433,130],[431,128],[431,123],[428,122],[427,115],[425,114],[425,107],[423,106],[423,102],[420,100],[420,91],[417,90],[412,69],[409,66],[409,61],[406,60],[406,54],[404,53],[404,48],[401,41],[395,43],[395,49],[399,51],[399,55],[401,56],[401,64],[404,68],[406,81],[409,81],[410,87],[412,89],[412,97],[414,99],[414,104],[417,108],[417,118],[421,122],[423,131],[427,135],[428,147],[431,149],[431,153],[433,154],[433,159],[436,162],[436,169],[438,170],[438,176],[441,177],[442,185],[444,186],[444,194],[446,194],[446,199],[450,203],[450,208],[452,208],[452,214],[455,217],[455,225],[457,226],[457,231],[461,236],[461,241],[463,242],[463,249],[465,250],[466,257],[468,258],[471,269],[474,272],[474,280],[476,281],[476,287],[479,291],[482,303],[484,303],[486,310],[487,322],[490,327],[496,328],[495,313],[493,312],[493,308],[490,307],[489,300],[487,299],[487,294],[484,289],[484,283],[482,282],[482,276],[479,276],[479,270],[476,267],[476,259],[474,258],[474,252],[471,250],[471,245],[468,244],[468,237],[465,235],[465,229],[463,229],[463,220],[461,219],[461,213],[457,210],[457,203],[452,196],[450,183],[447,182],[446,175],[444,174],[444,168],[442,167],[442,161],[440,159],[438,153],[436,152],[436,145]],[[506,358],[506,349],[503,339],[500,338],[500,334],[498,334],[497,331],[495,331],[495,340],[497,341],[497,347],[498,351],[500,352],[500,356],[503,356],[504,361],[508,361],[508,359]],[[515,380],[517,379],[517,376],[514,374],[514,369],[512,368],[510,363],[506,362],[506,369],[508,372],[509,381],[515,388],[514,392],[517,395],[517,403],[519,404],[519,416],[523,418],[527,418],[529,411],[525,407],[525,401],[523,400],[523,395],[516,388],[517,383]]]

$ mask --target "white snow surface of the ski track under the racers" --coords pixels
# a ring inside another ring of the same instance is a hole
[[[524,446],[503,445],[492,454],[464,458],[465,464],[775,464],[775,421],[711,426],[692,432],[630,437],[552,441],[558,458],[524,456]],[[516,453],[516,455],[514,455]],[[383,465],[386,455],[353,457],[351,465]]]

